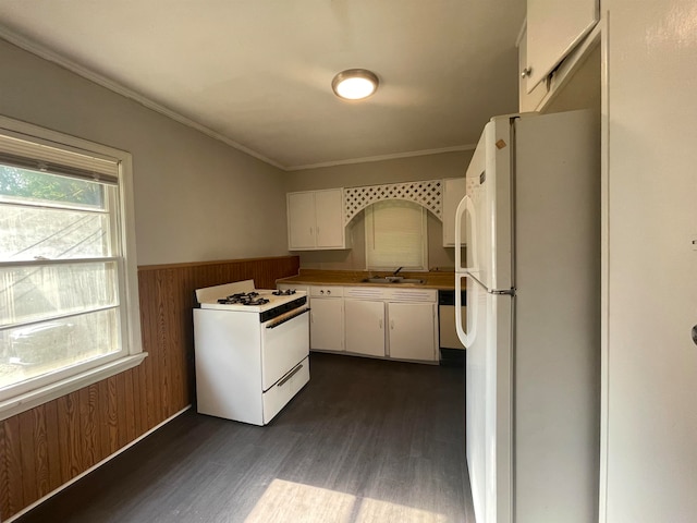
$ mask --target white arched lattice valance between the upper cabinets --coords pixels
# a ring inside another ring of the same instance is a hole
[[[414,202],[443,221],[443,183],[441,180],[427,180],[344,188],[344,224],[367,206],[386,199]]]

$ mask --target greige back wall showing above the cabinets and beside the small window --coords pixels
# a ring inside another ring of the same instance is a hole
[[[292,171],[286,174],[285,186],[289,192],[293,192],[464,177],[473,154],[474,149]],[[298,253],[301,267],[328,270],[365,269],[364,228],[365,220],[360,212],[347,230],[347,234],[353,239],[352,250]],[[431,268],[455,266],[454,250],[442,246],[442,222],[429,212],[428,265]]]

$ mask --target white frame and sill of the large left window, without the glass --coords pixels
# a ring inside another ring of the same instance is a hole
[[[118,271],[118,300],[121,318],[121,351],[96,358],[91,362],[75,365],[74,367],[61,367],[53,373],[48,373],[27,381],[12,385],[3,391],[0,400],[0,421],[16,415],[23,411],[33,409],[70,392],[101,381],[129,368],[139,365],[147,356],[143,352],[140,338],[140,314],[138,302],[137,265],[135,251],[135,211],[133,197],[133,158],[130,153],[115,149],[101,144],[96,144],[83,138],[51,131],[38,125],[21,122],[0,115],[0,134],[16,136],[37,145],[47,145],[65,151],[78,151],[95,155],[98,158],[108,158],[119,165],[118,205],[117,214],[110,212],[112,226],[117,228],[114,235],[120,246],[120,253],[112,258],[99,258],[115,260]],[[113,204],[110,202],[110,205]],[[114,253],[112,253],[114,254]],[[47,266],[58,263],[71,263],[71,260],[56,260]],[[7,263],[0,262],[4,267],[33,265],[30,262]],[[28,388],[32,384],[32,388]]]

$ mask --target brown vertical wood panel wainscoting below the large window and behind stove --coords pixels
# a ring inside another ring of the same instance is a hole
[[[139,366],[0,422],[0,521],[61,488],[194,402],[194,290],[273,289],[299,258],[138,267]]]

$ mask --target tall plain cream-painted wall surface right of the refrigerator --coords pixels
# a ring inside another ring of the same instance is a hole
[[[688,523],[697,521],[697,3],[601,3],[600,521]]]

